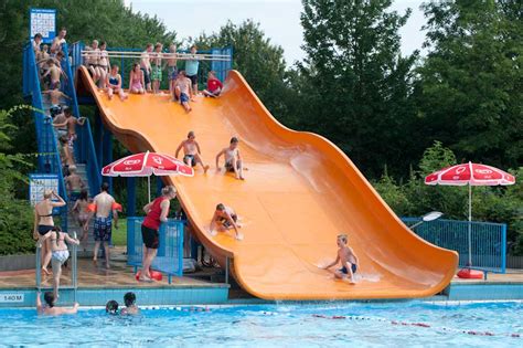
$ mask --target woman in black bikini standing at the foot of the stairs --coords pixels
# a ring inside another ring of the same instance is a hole
[[[53,201],[55,198],[57,201]],[[49,231],[54,228],[53,220],[53,209],[58,207],[64,207],[65,201],[52,190],[45,190],[43,194],[43,200],[38,202],[34,205],[34,239],[40,239],[44,236]],[[45,274],[47,272],[47,265],[51,262],[51,242],[50,240],[45,241],[42,245],[42,271]]]

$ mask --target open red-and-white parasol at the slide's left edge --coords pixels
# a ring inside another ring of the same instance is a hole
[[[130,155],[105,166],[105,177],[148,177],[148,194],[151,200],[150,176],[185,176],[192,177],[193,169],[173,156],[157,152]]]

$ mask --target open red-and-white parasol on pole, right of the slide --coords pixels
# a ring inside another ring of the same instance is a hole
[[[494,167],[478,164],[461,164],[440,169],[425,177],[426,184],[469,186],[469,264],[472,265],[471,221],[472,186],[514,184],[515,177]]]

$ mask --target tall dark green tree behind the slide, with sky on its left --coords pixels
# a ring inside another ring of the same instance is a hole
[[[398,34],[410,10],[398,14],[391,3],[303,0],[301,14],[309,109],[303,127],[333,140],[371,177],[384,165],[393,175],[406,172],[416,154],[409,133],[417,52],[402,56]]]

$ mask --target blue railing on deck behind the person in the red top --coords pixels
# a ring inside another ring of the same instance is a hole
[[[139,267],[142,263],[143,218],[127,218],[127,264]],[[183,226],[181,220],[169,220],[160,228],[160,247],[152,268],[171,275],[183,275]]]

